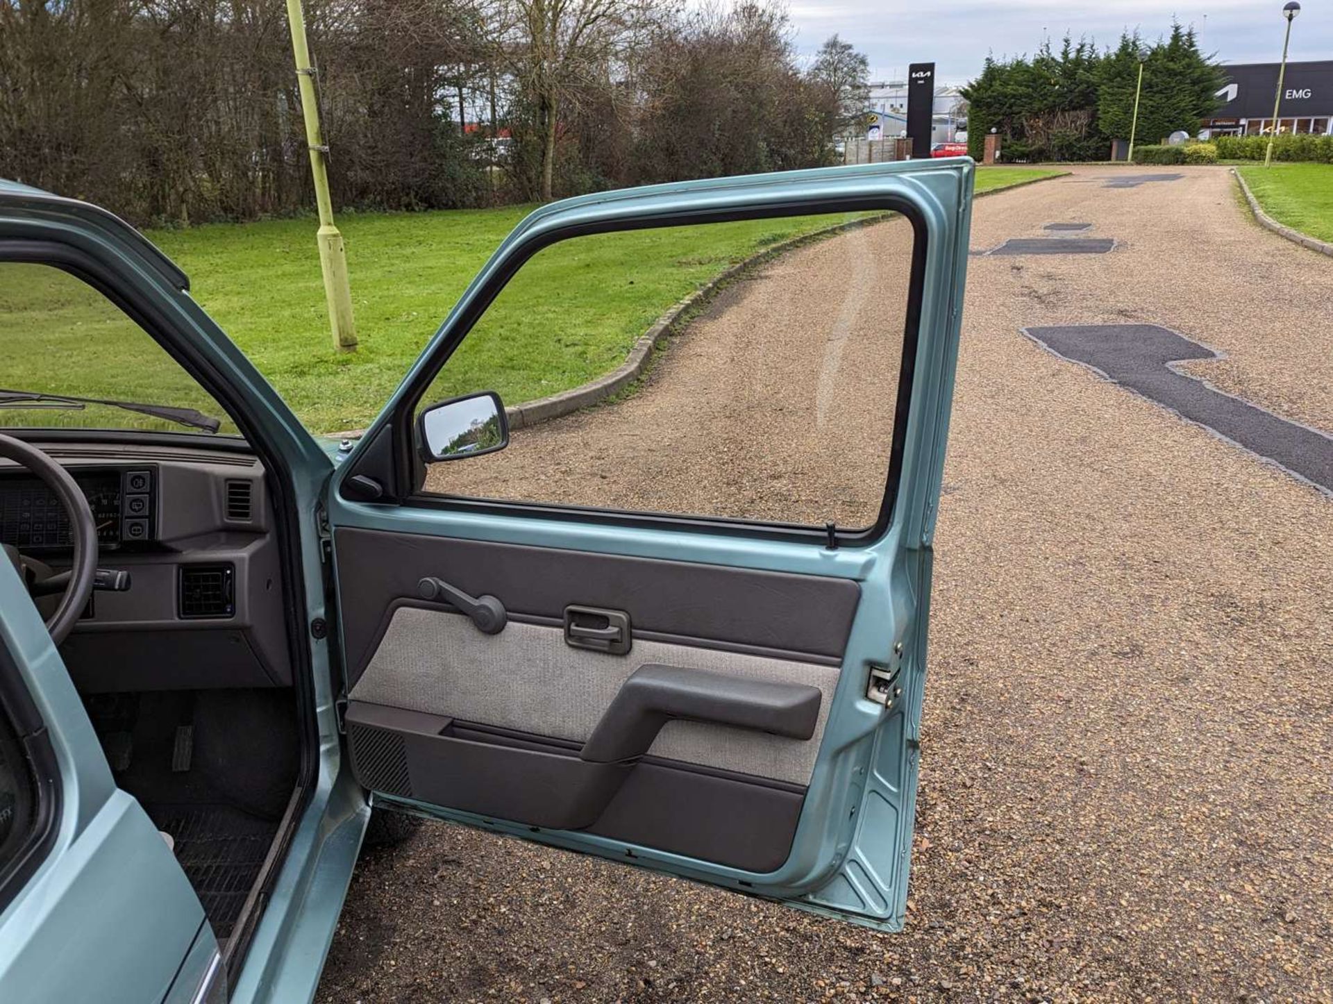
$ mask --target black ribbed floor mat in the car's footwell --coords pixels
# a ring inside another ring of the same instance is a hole
[[[176,841],[175,852],[219,939],[229,937],[277,823],[231,805],[148,805],[149,817]]]

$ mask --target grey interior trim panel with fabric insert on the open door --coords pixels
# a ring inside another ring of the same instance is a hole
[[[340,528],[335,553],[359,667],[345,721],[368,788],[782,864],[857,583],[360,528]],[[423,579],[495,597],[507,623],[487,633],[421,599]],[[625,651],[585,647],[580,623]]]

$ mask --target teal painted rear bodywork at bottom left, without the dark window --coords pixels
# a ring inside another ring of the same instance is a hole
[[[0,645],[51,737],[61,796],[55,844],[0,913],[3,996],[87,1000],[96,985],[108,1004],[161,1000],[205,929],[204,909],[148,815],[116,788],[9,561],[0,561]]]

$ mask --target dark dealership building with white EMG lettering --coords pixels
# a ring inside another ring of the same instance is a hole
[[[1204,128],[1212,136],[1270,132],[1278,64],[1246,63],[1222,69],[1226,71],[1226,87],[1217,96],[1226,104],[1204,121]],[[1333,132],[1333,60],[1286,64],[1277,131]]]

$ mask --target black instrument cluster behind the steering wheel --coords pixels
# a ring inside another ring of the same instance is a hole
[[[153,540],[153,468],[79,469],[72,475],[92,508],[101,551]],[[72,548],[69,513],[45,481],[25,473],[0,477],[0,543],[33,553]]]

